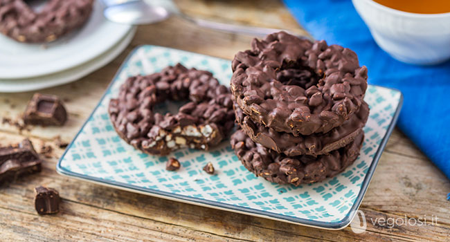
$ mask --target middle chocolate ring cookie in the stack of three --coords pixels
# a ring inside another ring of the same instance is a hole
[[[369,106],[363,101],[359,111],[341,126],[335,127],[327,133],[294,136],[292,133],[277,132],[263,124],[253,122],[237,104],[234,104],[234,109],[236,122],[253,142],[273,149],[277,153],[284,153],[286,156],[319,156],[344,147],[363,132],[362,128],[369,116]]]

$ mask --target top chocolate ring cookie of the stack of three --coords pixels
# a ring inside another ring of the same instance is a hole
[[[359,110],[367,68],[348,48],[286,32],[253,39],[232,63],[231,92],[258,123],[294,136],[326,133]]]

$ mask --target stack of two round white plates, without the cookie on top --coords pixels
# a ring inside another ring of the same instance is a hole
[[[73,82],[116,58],[132,41],[136,29],[107,21],[103,8],[96,1],[82,28],[49,44],[19,43],[0,35],[0,93]]]

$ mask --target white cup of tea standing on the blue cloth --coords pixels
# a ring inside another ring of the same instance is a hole
[[[450,12],[418,14],[372,0],[352,2],[378,46],[395,59],[421,65],[450,59]]]

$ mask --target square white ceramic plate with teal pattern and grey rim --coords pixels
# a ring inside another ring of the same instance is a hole
[[[57,164],[60,174],[174,201],[214,207],[300,225],[341,229],[358,209],[381,152],[395,126],[402,94],[369,86],[365,100],[370,117],[361,155],[348,169],[322,183],[278,185],[254,176],[233,153],[229,140],[210,151],[181,149],[170,156],[150,156],[121,140],[109,121],[107,106],[127,77],[150,74],[178,62],[214,73],[228,86],[231,62],[160,46],[136,48],[119,69],[100,103]],[[165,161],[180,160],[179,171]],[[216,174],[202,167],[210,161]]]

